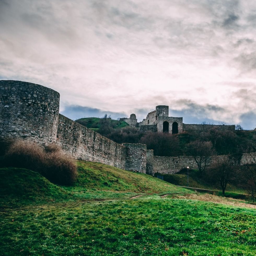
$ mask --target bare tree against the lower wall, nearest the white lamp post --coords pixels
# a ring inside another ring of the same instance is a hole
[[[202,175],[211,162],[211,156],[214,153],[210,141],[193,141],[189,143],[189,152],[193,156]]]

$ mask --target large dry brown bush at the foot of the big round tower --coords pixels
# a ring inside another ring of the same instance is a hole
[[[44,149],[33,142],[16,140],[9,145],[2,162],[3,166],[39,172],[49,181],[60,185],[71,185],[77,177],[75,161],[55,144]]]

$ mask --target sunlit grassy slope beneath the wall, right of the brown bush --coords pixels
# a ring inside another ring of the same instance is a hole
[[[119,194],[191,193],[191,191],[152,176],[121,170],[112,166],[78,161],[78,179],[73,187],[65,187],[80,198],[113,198]],[[116,192],[113,194],[112,192]],[[118,194],[117,194],[118,193]]]

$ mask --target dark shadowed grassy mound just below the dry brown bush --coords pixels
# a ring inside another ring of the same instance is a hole
[[[70,193],[41,174],[23,168],[0,168],[1,206],[67,200]]]

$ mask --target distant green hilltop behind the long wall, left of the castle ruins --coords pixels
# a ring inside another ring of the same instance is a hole
[[[104,124],[104,119],[97,118],[97,117],[80,118],[75,121],[79,124],[86,126],[87,128],[92,128],[93,130],[99,129],[101,127],[101,123]],[[127,124],[124,121],[119,122],[118,120],[114,120],[111,118],[107,118],[106,121],[113,128],[123,128],[125,126],[129,126],[129,124]],[[97,130],[95,130],[95,131],[97,131]]]

